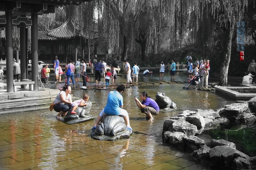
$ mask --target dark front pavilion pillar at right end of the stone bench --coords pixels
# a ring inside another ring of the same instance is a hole
[[[37,33],[37,13],[31,13],[31,60],[32,60],[32,81],[34,84],[34,91],[38,90],[38,33]]]

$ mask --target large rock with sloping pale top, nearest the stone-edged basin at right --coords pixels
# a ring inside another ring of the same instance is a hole
[[[245,112],[248,109],[248,102],[232,103],[220,111],[222,116],[232,117]]]

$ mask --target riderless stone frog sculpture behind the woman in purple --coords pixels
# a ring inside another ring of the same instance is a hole
[[[168,96],[165,96],[165,94],[162,92],[156,93],[155,101],[160,108],[160,112],[167,113],[179,109],[178,107],[176,107],[176,104]]]

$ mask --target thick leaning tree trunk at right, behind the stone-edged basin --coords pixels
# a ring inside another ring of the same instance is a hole
[[[235,23],[232,23],[230,26],[230,23],[227,24],[227,30],[224,32],[225,38],[224,38],[224,57],[223,61],[221,62],[220,67],[220,86],[227,86],[228,84],[228,65],[230,62],[230,54],[231,54],[231,45],[232,45],[232,35],[234,32],[234,25]]]

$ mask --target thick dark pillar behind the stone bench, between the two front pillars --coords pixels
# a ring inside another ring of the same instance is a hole
[[[22,24],[20,25],[20,79],[27,79],[26,71],[26,52],[27,52],[27,43],[26,43],[26,27]]]

